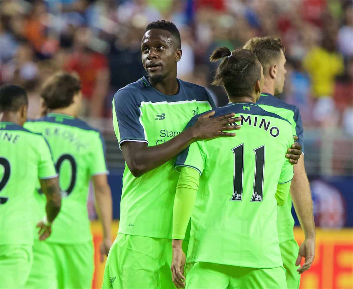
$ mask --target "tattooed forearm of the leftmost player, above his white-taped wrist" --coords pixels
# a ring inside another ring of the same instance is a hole
[[[51,223],[58,216],[61,207],[61,193],[58,185],[58,178],[41,180],[41,188],[46,195],[47,220]]]

